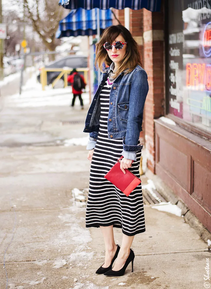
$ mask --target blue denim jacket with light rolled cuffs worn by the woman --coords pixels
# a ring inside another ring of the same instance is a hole
[[[99,95],[111,69],[114,69],[114,62],[101,74],[99,87],[87,113],[83,130],[90,134],[87,149],[93,149],[97,141],[100,126]],[[137,65],[128,74],[124,74],[125,71],[118,75],[111,87],[108,138],[122,137],[123,151],[121,154],[125,158],[135,161],[136,152],[143,148],[143,145],[138,146],[137,144],[142,130],[143,108],[149,85],[146,71],[140,65]]]

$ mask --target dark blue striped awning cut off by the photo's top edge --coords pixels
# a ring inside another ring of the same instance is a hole
[[[67,9],[100,8],[106,10],[113,7],[121,10],[128,7],[133,10],[146,8],[150,11],[160,11],[161,0],[59,0],[59,5]]]

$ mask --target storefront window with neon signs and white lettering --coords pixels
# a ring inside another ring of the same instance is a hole
[[[211,0],[168,1],[169,113],[211,132]]]

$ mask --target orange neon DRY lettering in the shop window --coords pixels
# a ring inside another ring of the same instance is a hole
[[[206,63],[187,63],[186,86],[193,90],[211,90],[211,66]]]

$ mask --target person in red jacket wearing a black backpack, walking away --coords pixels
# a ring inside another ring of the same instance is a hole
[[[83,109],[83,99],[81,97],[82,89],[87,85],[84,81],[83,75],[80,75],[76,68],[74,68],[70,75],[68,75],[68,82],[71,83],[73,99],[71,106],[74,107],[76,96],[78,95],[80,100],[81,109]]]

